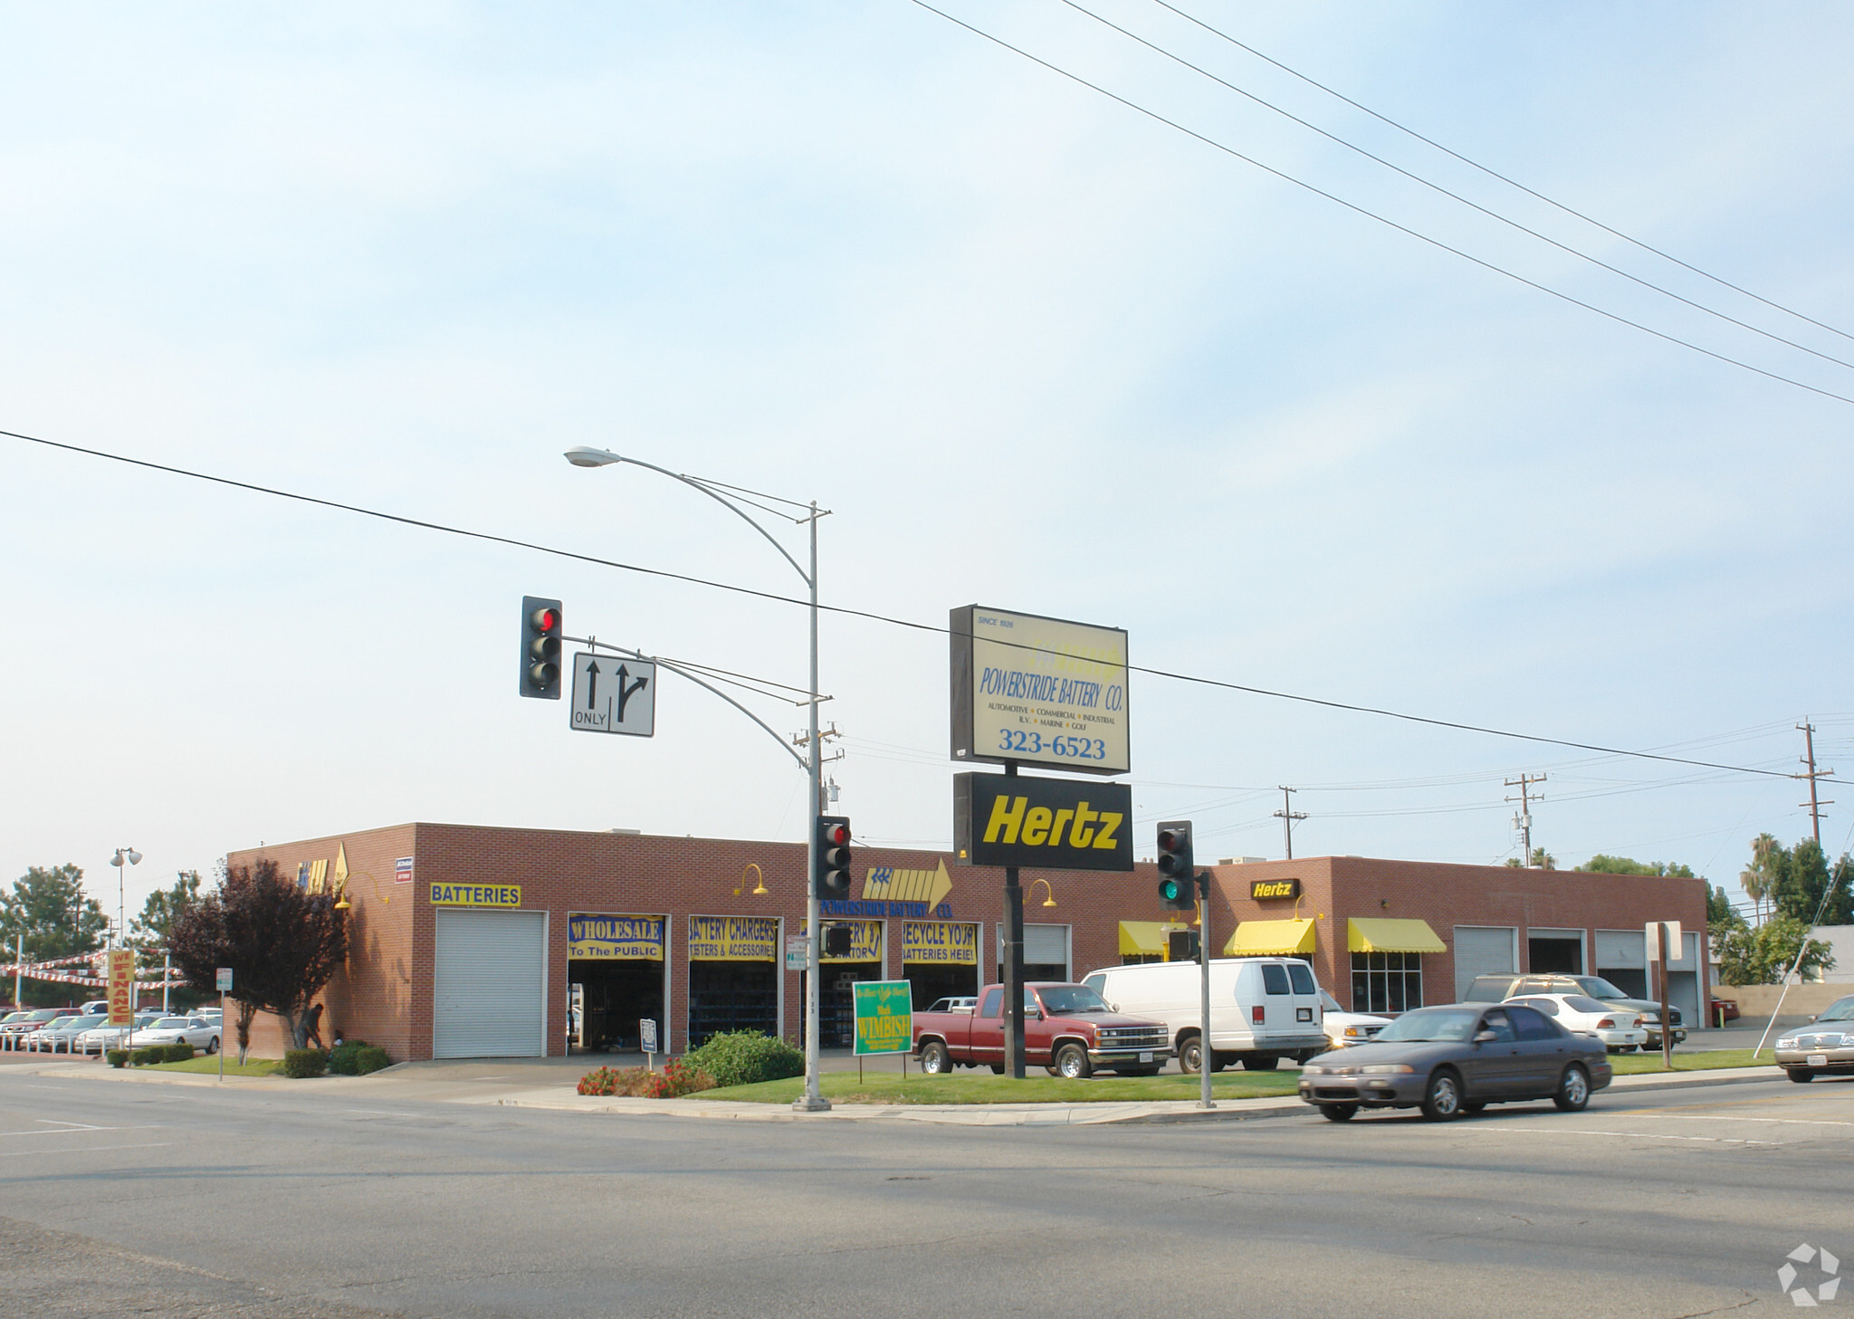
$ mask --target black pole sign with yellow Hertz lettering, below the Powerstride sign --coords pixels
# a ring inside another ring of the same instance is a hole
[[[1131,870],[1131,824],[1125,783],[953,775],[953,846],[966,864]]]

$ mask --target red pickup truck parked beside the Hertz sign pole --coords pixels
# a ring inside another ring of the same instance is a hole
[[[988,985],[973,1007],[916,1013],[914,1056],[929,1074],[955,1067],[1005,1070],[1003,985]],[[1122,1017],[1086,985],[1023,987],[1023,1061],[1051,1076],[1092,1076],[1105,1067],[1127,1076],[1157,1076],[1172,1057],[1164,1022]]]

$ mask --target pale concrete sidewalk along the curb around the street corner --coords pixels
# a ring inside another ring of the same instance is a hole
[[[26,1074],[56,1078],[154,1085],[222,1085],[228,1089],[287,1091],[291,1095],[339,1095],[343,1100],[365,1100],[369,1104],[425,1100],[438,1104],[536,1108],[632,1117],[695,1117],[734,1122],[905,1121],[944,1126],[1111,1126],[1125,1122],[1244,1122],[1307,1115],[1313,1111],[1311,1106],[1294,1095],[1274,1095],[1216,1100],[1214,1109],[1201,1109],[1192,1100],[1149,1100],[1105,1104],[836,1104],[825,1113],[795,1113],[788,1104],[578,1095],[578,1078],[586,1070],[588,1065],[582,1057],[399,1063],[371,1076],[321,1076],[302,1082],[293,1082],[286,1076],[228,1076],[221,1082],[210,1072],[150,1072],[113,1069],[95,1061],[46,1061],[37,1067],[28,1065],[20,1069]],[[1732,1067],[1706,1072],[1619,1076],[1607,1091],[1598,1091],[1598,1098],[1604,1093],[1743,1085],[1778,1080],[1780,1074],[1772,1063],[1769,1067]]]

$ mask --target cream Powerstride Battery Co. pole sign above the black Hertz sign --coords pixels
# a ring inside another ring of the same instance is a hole
[[[1131,768],[1122,629],[964,605],[949,633],[955,761]]]

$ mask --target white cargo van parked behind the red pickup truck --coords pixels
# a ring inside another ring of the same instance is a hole
[[[1090,970],[1081,983],[1114,1011],[1161,1020],[1172,1031],[1177,1065],[1198,1070],[1201,970],[1194,961]],[[1296,957],[1224,957],[1211,961],[1211,1070],[1231,1063],[1268,1072],[1283,1057],[1305,1061],[1333,1043],[1320,1024],[1320,985]]]

